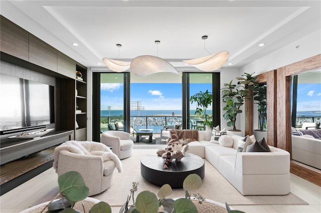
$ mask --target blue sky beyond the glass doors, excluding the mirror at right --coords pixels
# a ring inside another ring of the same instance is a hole
[[[209,89],[211,84],[191,84],[191,94],[200,90]],[[181,110],[182,84],[181,83],[131,83],[130,100],[141,101],[145,110]],[[122,109],[123,84],[105,83],[101,86],[101,109]],[[191,109],[195,108],[194,104]]]

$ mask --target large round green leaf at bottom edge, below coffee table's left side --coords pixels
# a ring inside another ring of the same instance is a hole
[[[159,202],[154,193],[142,191],[136,197],[135,206],[140,213],[154,213],[158,210]]]

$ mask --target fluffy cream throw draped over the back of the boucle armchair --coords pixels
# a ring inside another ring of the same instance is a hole
[[[54,169],[56,169],[56,172],[58,169],[58,159],[60,150],[67,150],[76,154],[98,155],[102,157],[103,161],[113,160],[115,162],[115,167],[117,168],[118,172],[120,173],[122,171],[120,159],[105,144],[93,141],[70,140],[62,143],[61,145],[55,148],[53,167]]]

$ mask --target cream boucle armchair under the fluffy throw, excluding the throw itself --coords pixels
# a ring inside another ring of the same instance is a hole
[[[78,171],[89,188],[89,195],[101,193],[109,188],[115,162],[103,161],[101,156],[72,153],[61,150],[58,160],[58,176],[67,171]]]

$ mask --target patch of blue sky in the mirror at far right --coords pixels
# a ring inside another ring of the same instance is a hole
[[[321,110],[321,83],[297,84],[297,111]]]

